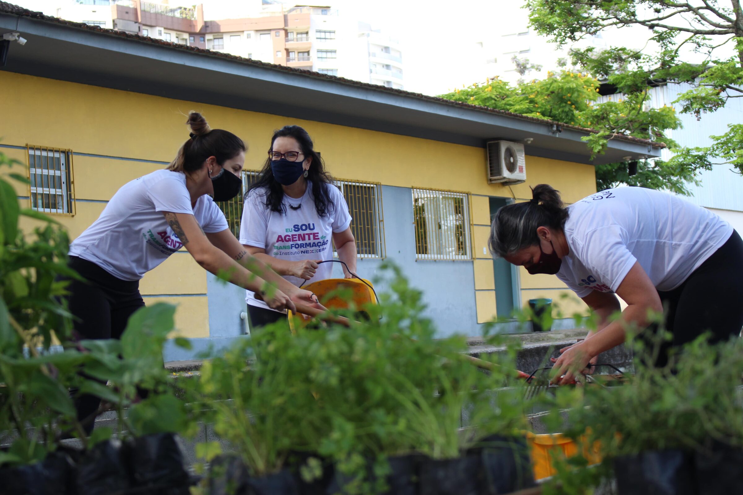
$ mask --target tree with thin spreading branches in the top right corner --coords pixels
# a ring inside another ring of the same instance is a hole
[[[573,63],[607,78],[623,94],[646,91],[649,82],[687,82],[674,103],[695,115],[723,108],[743,97],[743,8],[740,0],[527,0],[531,26],[557,45],[604,30],[649,29],[649,45],[571,50]],[[743,173],[743,124],[728,125],[706,147],[684,148],[663,166],[686,173],[733,165]]]

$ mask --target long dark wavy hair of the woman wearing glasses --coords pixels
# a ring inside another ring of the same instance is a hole
[[[312,138],[299,125],[285,125],[273,131],[273,137],[271,137],[271,145],[268,151],[273,150],[273,142],[276,141],[277,137],[293,137],[299,143],[299,148],[305,155],[305,160],[312,158],[306,180],[312,184],[312,197],[314,198],[317,214],[320,217],[325,217],[330,212],[329,208],[333,204],[330,199],[330,192],[328,191],[328,186],[333,183],[333,177],[325,171],[325,162],[322,161],[322,157],[314,150]],[[253,189],[256,189],[256,191],[265,189],[265,205],[272,212],[286,213],[282,203],[284,200],[284,190],[281,184],[273,178],[270,158],[266,159],[266,163],[263,165],[258,179],[245,193],[246,198]]]

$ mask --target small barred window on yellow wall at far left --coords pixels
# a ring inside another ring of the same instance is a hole
[[[72,151],[26,145],[31,209],[75,214]]]

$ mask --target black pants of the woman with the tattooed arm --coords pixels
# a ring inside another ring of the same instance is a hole
[[[121,338],[132,313],[143,307],[139,281],[123,281],[95,263],[77,256],[70,257],[69,266],[86,282],[72,281],[68,286],[68,304],[74,315],[73,328],[77,338]],[[77,419],[88,419],[100,405],[96,396],[83,395],[75,400]],[[93,430],[92,421],[83,424]]]

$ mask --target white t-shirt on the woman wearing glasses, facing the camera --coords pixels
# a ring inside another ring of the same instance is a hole
[[[267,255],[282,260],[332,260],[333,233],[343,232],[351,225],[351,214],[340,190],[328,184],[331,204],[328,212],[320,217],[312,197],[312,184],[308,183],[305,195],[300,198],[284,194],[285,213],[272,212],[266,206],[266,190],[253,189],[245,199],[240,224],[240,243],[265,249]],[[290,205],[299,209],[292,209]],[[320,263],[313,278],[307,283],[331,278],[334,263]],[[302,278],[284,275],[296,286],[304,282]],[[251,306],[268,308],[255,298],[249,290],[245,301]],[[270,308],[268,308],[270,309]]]

